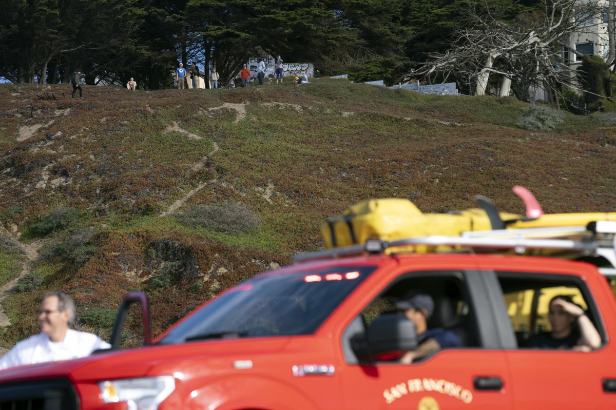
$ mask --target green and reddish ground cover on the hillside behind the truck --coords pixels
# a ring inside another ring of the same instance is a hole
[[[532,110],[514,98],[328,79],[235,90],[86,86],[86,100],[69,91],[0,86],[0,219],[24,243],[46,243],[32,269],[41,277],[2,302],[11,321],[2,347],[36,332],[36,305],[51,289],[73,295],[78,327],[104,337],[124,292],[148,291],[160,334],[227,287],[320,249],[320,223],[364,199],[408,198],[439,212],[474,207],[481,194],[522,212],[511,192],[521,184],[546,212],[616,209],[610,122],[563,114],[529,131],[519,124]],[[59,99],[36,99],[49,92]],[[225,204],[241,206],[217,213]],[[57,209],[71,212],[59,218]],[[0,253],[0,279],[17,276],[23,260]]]

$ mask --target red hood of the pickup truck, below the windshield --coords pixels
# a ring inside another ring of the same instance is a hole
[[[83,359],[31,364],[0,371],[0,383],[33,379],[68,377],[88,382],[126,377],[143,377],[153,368],[182,368],[182,363],[207,361],[213,366],[222,363],[228,368],[230,360],[244,360],[253,356],[280,352],[290,337],[264,339],[233,339],[190,342],[176,345],[155,345],[126,350],[110,350]]]

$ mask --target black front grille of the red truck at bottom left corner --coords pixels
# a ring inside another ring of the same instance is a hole
[[[79,397],[67,379],[0,384],[0,410],[78,410]]]

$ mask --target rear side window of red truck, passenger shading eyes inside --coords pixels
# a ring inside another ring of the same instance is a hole
[[[497,276],[518,348],[590,351],[606,340],[580,279],[540,273]]]

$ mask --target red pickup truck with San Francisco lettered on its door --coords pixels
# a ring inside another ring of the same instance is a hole
[[[458,252],[406,251],[417,244]],[[428,237],[302,255],[156,340],[146,335],[143,347],[0,372],[0,409],[616,408],[616,302],[606,276],[579,260],[503,254],[532,248],[593,257],[598,242]],[[429,326],[454,332],[462,347],[412,364],[381,360],[417,344],[411,322],[392,312],[409,289],[431,295]],[[527,347],[546,330],[554,294],[585,309],[601,347]],[[145,304],[144,312],[147,324]]]

